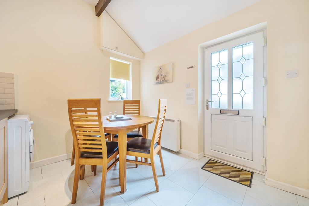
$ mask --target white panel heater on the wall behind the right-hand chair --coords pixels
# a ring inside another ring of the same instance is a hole
[[[151,139],[155,129],[155,123],[157,121],[156,116],[150,116],[155,121],[148,125],[148,138]],[[173,151],[180,150],[180,120],[165,118],[161,136],[161,146]]]

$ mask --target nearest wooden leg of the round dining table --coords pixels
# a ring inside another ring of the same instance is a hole
[[[120,174],[120,193],[126,191],[126,170],[127,170],[127,131],[118,131],[119,147],[119,174]]]

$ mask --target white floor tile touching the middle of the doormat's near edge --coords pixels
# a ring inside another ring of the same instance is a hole
[[[211,174],[204,183],[204,186],[239,204],[242,204],[247,189],[247,186],[220,177],[216,174]]]

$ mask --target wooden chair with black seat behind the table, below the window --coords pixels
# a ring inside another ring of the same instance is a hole
[[[123,115],[141,115],[141,100],[123,100]],[[127,133],[127,140],[134,137],[143,137],[141,129]],[[118,134],[112,135],[112,140],[118,140]]]

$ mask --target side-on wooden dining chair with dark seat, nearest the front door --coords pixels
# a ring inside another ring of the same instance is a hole
[[[165,170],[161,152],[161,134],[165,120],[166,105],[167,105],[166,99],[159,99],[158,116],[155,124],[155,130],[151,140],[142,137],[135,137],[127,142],[127,155],[141,158],[150,158],[150,163],[137,160],[134,161],[129,159],[127,159],[127,162],[151,166],[157,192],[159,192],[159,184],[158,184],[157,172],[155,169],[156,154],[159,154],[163,176],[165,176]]]

